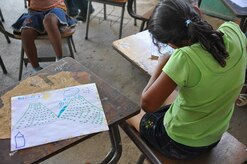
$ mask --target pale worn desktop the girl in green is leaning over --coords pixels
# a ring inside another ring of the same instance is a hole
[[[143,31],[137,34],[116,40],[113,42],[113,48],[124,58],[129,60],[141,71],[152,75],[156,65],[157,59],[152,59],[153,43],[149,32]]]

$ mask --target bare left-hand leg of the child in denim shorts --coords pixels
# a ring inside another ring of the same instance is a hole
[[[37,48],[34,43],[37,36],[38,32],[30,28],[25,28],[21,31],[23,49],[26,52],[29,62],[34,68],[39,67]]]

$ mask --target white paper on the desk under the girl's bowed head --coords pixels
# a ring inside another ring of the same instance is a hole
[[[137,33],[136,34],[137,37],[142,37],[141,40],[146,42],[146,45],[150,45],[150,49],[151,49],[151,55],[153,56],[164,56],[164,55],[171,55],[174,51],[174,49],[172,47],[170,47],[169,45],[163,44],[163,43],[159,43],[160,44],[160,52],[157,48],[157,46],[155,46],[152,42],[152,37],[151,34],[146,30],[144,32],[141,33]]]

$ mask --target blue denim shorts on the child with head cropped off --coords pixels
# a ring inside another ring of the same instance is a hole
[[[53,8],[47,11],[33,11],[22,14],[18,20],[12,25],[15,32],[21,32],[23,28],[32,28],[40,34],[45,33],[43,20],[47,14],[54,14],[59,20],[60,26],[75,26],[76,20],[70,18],[62,9]]]

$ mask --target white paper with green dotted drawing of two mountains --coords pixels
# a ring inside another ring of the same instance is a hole
[[[11,97],[11,151],[108,130],[95,83]]]

